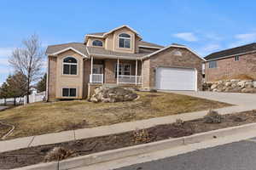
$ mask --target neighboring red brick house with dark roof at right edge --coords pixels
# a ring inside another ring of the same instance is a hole
[[[249,77],[256,79],[256,43],[209,54],[206,81]]]

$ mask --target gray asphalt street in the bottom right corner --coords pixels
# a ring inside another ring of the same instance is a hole
[[[256,139],[218,145],[116,170],[255,170]]]

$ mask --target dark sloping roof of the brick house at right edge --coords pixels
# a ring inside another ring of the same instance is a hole
[[[209,54],[207,55],[207,57],[205,57],[205,59],[207,60],[223,59],[223,58],[229,58],[239,54],[247,54],[252,52],[256,52],[255,42],[247,45],[243,45],[240,47],[225,49],[223,51],[218,51],[216,53]]]

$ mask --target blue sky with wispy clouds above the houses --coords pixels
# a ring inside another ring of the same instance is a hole
[[[144,41],[184,44],[201,57],[256,42],[253,0],[8,0],[0,7],[0,84],[13,73],[12,50],[34,33],[46,48],[128,25]]]

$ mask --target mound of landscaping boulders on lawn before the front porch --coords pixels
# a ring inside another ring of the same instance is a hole
[[[137,94],[131,89],[125,88],[96,88],[95,94],[90,98],[91,102],[122,102],[137,99]]]

